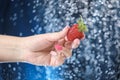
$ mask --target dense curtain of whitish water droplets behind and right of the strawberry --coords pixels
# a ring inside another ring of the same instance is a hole
[[[75,23],[80,14],[89,28],[73,56],[60,66],[64,71],[60,71],[60,76],[65,80],[117,80],[116,76],[120,74],[117,68],[120,64],[117,58],[120,56],[120,1],[47,2],[49,7],[44,14],[46,32],[59,31],[65,25]]]

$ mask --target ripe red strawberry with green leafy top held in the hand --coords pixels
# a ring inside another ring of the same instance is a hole
[[[83,39],[85,37],[84,32],[87,31],[87,27],[84,24],[82,17],[78,20],[78,23],[73,24],[67,33],[68,41],[73,41],[74,39]]]

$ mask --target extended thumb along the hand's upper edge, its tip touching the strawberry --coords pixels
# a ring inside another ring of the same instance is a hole
[[[51,41],[57,41],[63,37],[65,37],[67,35],[67,32],[69,30],[69,26],[66,26],[62,31],[60,32],[55,32],[55,33],[50,33],[48,35],[48,38],[51,40]]]

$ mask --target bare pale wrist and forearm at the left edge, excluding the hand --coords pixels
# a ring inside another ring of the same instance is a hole
[[[0,61],[21,62],[21,37],[0,35]]]

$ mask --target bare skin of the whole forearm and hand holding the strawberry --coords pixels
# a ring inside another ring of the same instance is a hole
[[[72,49],[80,44],[79,39],[67,40],[69,27],[60,32],[28,37],[0,35],[0,62],[26,62],[34,65],[59,66],[71,57]],[[55,45],[62,46],[56,50]]]

